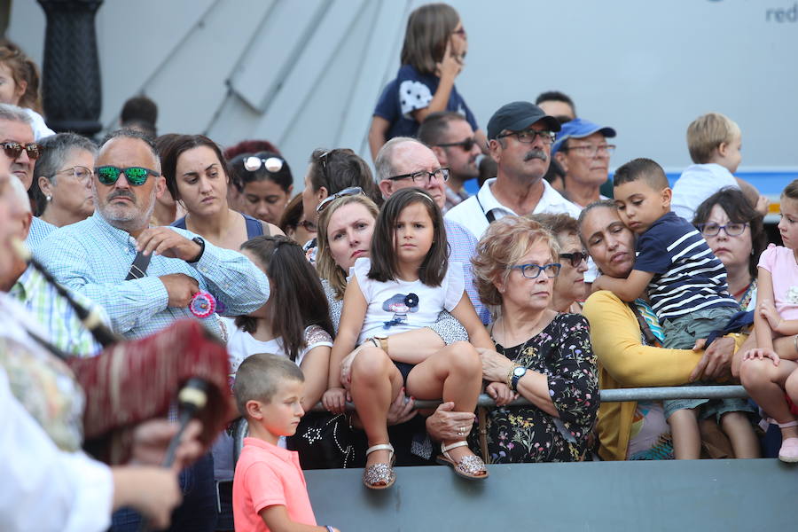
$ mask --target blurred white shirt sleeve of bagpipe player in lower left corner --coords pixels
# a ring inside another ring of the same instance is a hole
[[[59,450],[12,395],[0,368],[0,530],[105,531],[111,526],[111,469]]]

